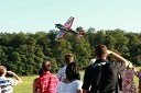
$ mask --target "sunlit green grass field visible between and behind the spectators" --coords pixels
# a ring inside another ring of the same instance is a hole
[[[137,68],[137,69],[139,70],[141,68]],[[80,74],[83,79],[84,71],[82,71]],[[23,83],[14,86],[14,93],[32,93],[32,82],[35,78],[37,78],[37,75],[22,77]],[[134,82],[135,82],[135,85],[138,86],[139,80],[137,77],[134,78]]]

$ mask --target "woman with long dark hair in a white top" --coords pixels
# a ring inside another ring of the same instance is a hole
[[[83,93],[83,81],[79,80],[78,67],[70,62],[66,67],[66,79],[57,85],[57,93]]]

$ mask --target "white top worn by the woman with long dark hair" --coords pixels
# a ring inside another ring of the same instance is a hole
[[[59,82],[57,85],[57,93],[77,93],[78,90],[82,90],[83,81],[75,80],[70,83]]]

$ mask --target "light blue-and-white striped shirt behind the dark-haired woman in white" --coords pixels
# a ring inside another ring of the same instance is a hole
[[[64,66],[63,68],[61,68],[57,72],[57,79],[59,81],[63,81],[64,79],[66,79],[66,66]]]

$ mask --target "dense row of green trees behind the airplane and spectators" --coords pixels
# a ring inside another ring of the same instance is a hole
[[[99,44],[105,44],[133,65],[141,65],[141,33],[118,28],[96,31],[90,27],[80,39],[68,33],[59,43],[54,40],[57,33],[55,30],[35,34],[0,33],[0,65],[21,75],[31,75],[37,74],[43,58],[47,58],[52,72],[57,72],[65,65],[64,55],[72,53],[83,70],[89,65],[94,49]]]

